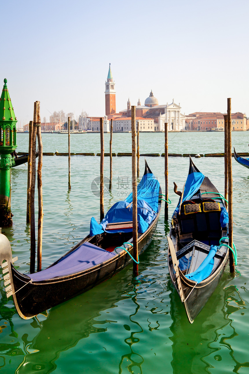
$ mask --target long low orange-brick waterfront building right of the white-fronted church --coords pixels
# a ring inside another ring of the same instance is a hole
[[[227,114],[227,113],[224,113]],[[224,128],[224,114],[220,112],[194,112],[186,116],[185,131],[211,131],[213,128]],[[246,114],[231,114],[232,131],[247,131],[249,120]]]

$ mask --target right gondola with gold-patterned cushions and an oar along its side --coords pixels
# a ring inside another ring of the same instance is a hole
[[[228,262],[228,213],[220,194],[194,165],[174,211],[168,268],[187,318],[194,318],[218,285]]]

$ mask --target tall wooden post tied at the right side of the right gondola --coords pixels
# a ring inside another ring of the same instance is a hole
[[[228,231],[229,246],[233,248],[233,175],[231,155],[231,98],[227,99],[227,170],[228,170]],[[233,252],[229,249],[230,272],[234,272]]]

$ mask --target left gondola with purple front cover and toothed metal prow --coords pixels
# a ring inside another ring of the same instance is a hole
[[[146,163],[146,162],[145,162]],[[161,210],[161,187],[147,163],[137,186],[138,255],[149,245]],[[125,249],[126,250],[125,250]],[[110,278],[133,260],[132,193],[115,203],[100,224],[92,217],[90,234],[40,272],[25,275],[13,266],[10,243],[0,234],[0,264],[7,297],[29,319]]]

